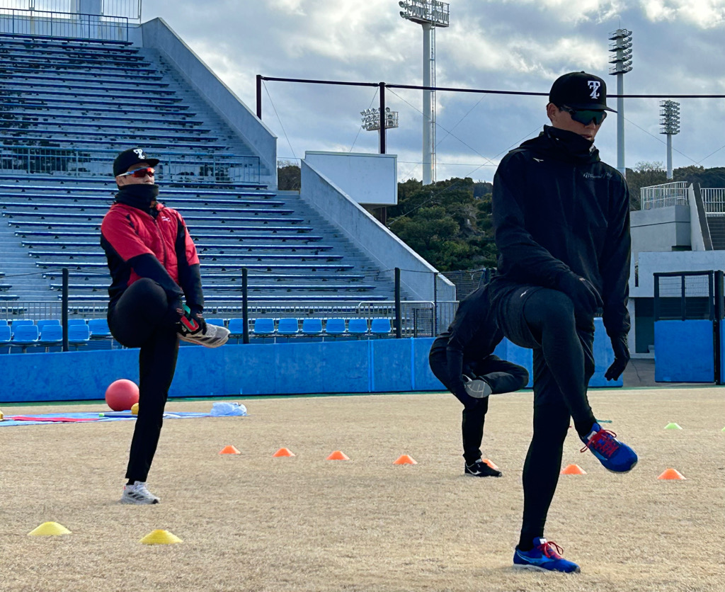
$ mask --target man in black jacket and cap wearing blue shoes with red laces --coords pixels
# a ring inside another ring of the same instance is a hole
[[[578,572],[544,538],[570,416],[610,471],[637,455],[597,423],[587,400],[594,373],[594,316],[602,309],[615,361],[627,361],[629,192],[599,157],[594,139],[607,112],[602,78],[568,73],[552,85],[551,126],[506,155],[494,177],[493,222],[500,253],[492,305],[511,341],[534,350],[534,435],[523,466],[523,525],[514,564]]]

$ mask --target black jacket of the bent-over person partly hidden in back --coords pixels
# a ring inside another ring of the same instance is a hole
[[[446,386],[457,394],[465,392],[461,379],[464,361],[483,361],[494,353],[502,339],[503,333],[489,305],[488,287],[480,287],[460,301],[447,331],[439,334],[431,346],[431,353],[446,353],[447,374],[451,383]]]

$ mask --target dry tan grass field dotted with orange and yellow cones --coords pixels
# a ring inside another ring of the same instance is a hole
[[[597,418],[613,420],[640,461],[611,474],[568,437],[564,464],[587,474],[561,477],[546,534],[581,565],[574,575],[511,567],[530,392],[491,399],[484,456],[501,479],[463,476],[452,395],[257,398],[244,400],[244,418],[170,419],[149,475],[157,506],[117,503],[133,422],[0,427],[0,589],[721,592],[724,395],[590,392]],[[228,444],[241,455],[220,455]],[[273,458],[282,446],[297,456]],[[334,450],[350,460],[326,461]],[[393,465],[403,453],[418,464]],[[658,480],[668,467],[687,480]],[[72,534],[28,537],[51,520]],[[138,542],[154,529],[183,543]]]

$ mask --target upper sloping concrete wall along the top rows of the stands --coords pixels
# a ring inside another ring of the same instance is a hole
[[[200,8],[201,9],[201,8]],[[157,49],[171,62],[186,81],[208,104],[252,147],[260,157],[262,166],[270,172],[271,183],[277,186],[277,136],[265,126],[257,115],[241,102],[228,86],[212,72],[199,56],[160,18],[141,25],[144,47]],[[240,56],[240,67],[244,57]],[[262,182],[265,178],[262,177]]]

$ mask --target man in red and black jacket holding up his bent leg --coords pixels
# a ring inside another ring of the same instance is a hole
[[[122,503],[159,503],[146,488],[146,477],[159,443],[178,340],[218,348],[229,336],[228,329],[204,322],[199,257],[181,214],[157,202],[158,163],[141,148],[116,157],[119,191],[101,224],[112,277],[109,328],[125,347],[141,348],[138,418]]]

